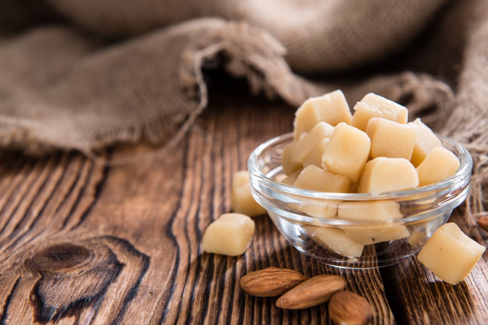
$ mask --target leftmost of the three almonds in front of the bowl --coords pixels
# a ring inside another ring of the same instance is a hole
[[[241,278],[241,288],[250,295],[276,297],[304,282],[307,277],[289,268],[264,268]]]

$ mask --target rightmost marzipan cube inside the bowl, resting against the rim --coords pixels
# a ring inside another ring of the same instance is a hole
[[[459,168],[459,159],[446,148],[432,149],[424,161],[417,167],[419,186],[437,183],[446,179]]]

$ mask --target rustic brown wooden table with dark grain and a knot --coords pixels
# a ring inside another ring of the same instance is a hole
[[[0,162],[0,324],[331,324],[327,304],[282,310],[239,279],[270,266],[340,274],[375,324],[488,324],[488,254],[451,286],[415,258],[372,270],[327,267],[286,243],[268,216],[243,256],[204,253],[206,226],[230,211],[234,172],[264,140],[291,131],[294,108],[217,82],[208,108],[174,148],[104,167],[80,153]],[[224,90],[224,91],[223,91]],[[225,94],[224,94],[225,93]],[[147,152],[113,148],[111,159]],[[479,243],[488,233],[455,211]]]

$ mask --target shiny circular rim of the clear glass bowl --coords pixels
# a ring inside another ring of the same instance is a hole
[[[290,140],[293,137],[293,133],[291,132],[273,137],[269,140],[264,141],[259,146],[257,146],[252,151],[252,153],[249,156],[249,159],[247,160],[247,170],[249,172],[250,178],[257,178],[258,180],[264,182],[266,186],[272,189],[273,191],[279,191],[282,192],[283,194],[291,194],[295,196],[303,196],[303,197],[309,197],[314,199],[327,199],[327,200],[347,200],[347,201],[349,200],[369,201],[369,200],[388,200],[388,199],[398,200],[401,198],[408,198],[409,196],[412,195],[419,195],[424,193],[427,194],[432,191],[441,191],[446,187],[455,184],[462,184],[461,181],[465,180],[466,178],[468,178],[469,181],[471,170],[472,170],[472,164],[473,164],[471,154],[464,146],[448,138],[447,136],[440,135],[440,134],[436,134],[436,136],[439,137],[442,141],[447,142],[458,152],[454,154],[456,155],[456,157],[459,158],[460,161],[459,168],[452,176],[440,182],[429,184],[422,187],[417,187],[415,189],[410,189],[410,190],[391,191],[391,192],[381,193],[378,195],[372,195],[370,193],[338,193],[338,192],[312,191],[312,190],[305,190],[305,189],[280,183],[266,176],[258,168],[257,165],[258,157],[269,147],[279,142]]]

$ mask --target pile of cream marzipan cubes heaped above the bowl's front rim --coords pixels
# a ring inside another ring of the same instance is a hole
[[[309,98],[295,113],[282,157],[283,183],[307,190],[371,193],[414,189],[454,174],[458,158],[420,119],[367,94],[351,115],[340,90]]]

